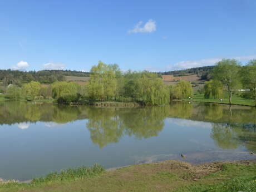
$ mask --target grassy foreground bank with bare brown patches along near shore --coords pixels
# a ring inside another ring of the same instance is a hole
[[[90,171],[88,171],[90,170]],[[174,191],[229,192],[256,189],[256,161],[191,165],[181,161],[127,166],[111,171],[101,166],[63,171],[31,184],[4,184],[3,192],[36,191]]]

